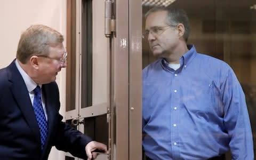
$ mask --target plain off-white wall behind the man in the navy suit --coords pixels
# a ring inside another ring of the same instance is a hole
[[[65,0],[0,0],[0,68],[9,65],[15,58],[20,35],[31,25],[52,27],[66,39],[66,9]],[[62,104],[60,114],[64,116],[66,69],[58,74],[57,83]],[[57,159],[65,159],[64,154],[53,148],[49,160]]]

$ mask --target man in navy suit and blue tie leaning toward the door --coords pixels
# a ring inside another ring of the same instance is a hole
[[[59,90],[55,83],[67,66],[63,36],[34,25],[22,33],[15,59],[0,69],[0,158],[41,159],[52,146],[79,158],[106,145],[61,122]]]

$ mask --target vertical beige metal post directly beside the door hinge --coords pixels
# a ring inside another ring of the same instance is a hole
[[[129,0],[116,4],[116,37],[113,36],[115,137],[111,160],[129,159]],[[138,158],[135,158],[138,159]]]

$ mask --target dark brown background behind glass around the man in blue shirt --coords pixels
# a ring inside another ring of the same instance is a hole
[[[143,0],[144,1],[144,0]],[[195,5],[196,4],[196,5]],[[199,53],[226,61],[241,83],[246,96],[256,149],[256,5],[255,1],[174,1],[184,9],[190,21],[188,44]],[[152,7],[142,5],[143,14]],[[145,28],[145,18],[142,19]],[[142,65],[156,60],[142,39]],[[227,155],[230,159],[230,155]]]

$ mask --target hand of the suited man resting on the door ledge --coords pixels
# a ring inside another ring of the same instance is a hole
[[[85,151],[88,159],[96,158],[97,154],[92,154],[93,150],[103,150],[107,151],[107,146],[104,145],[103,143],[97,142],[97,141],[91,141],[85,146]]]

